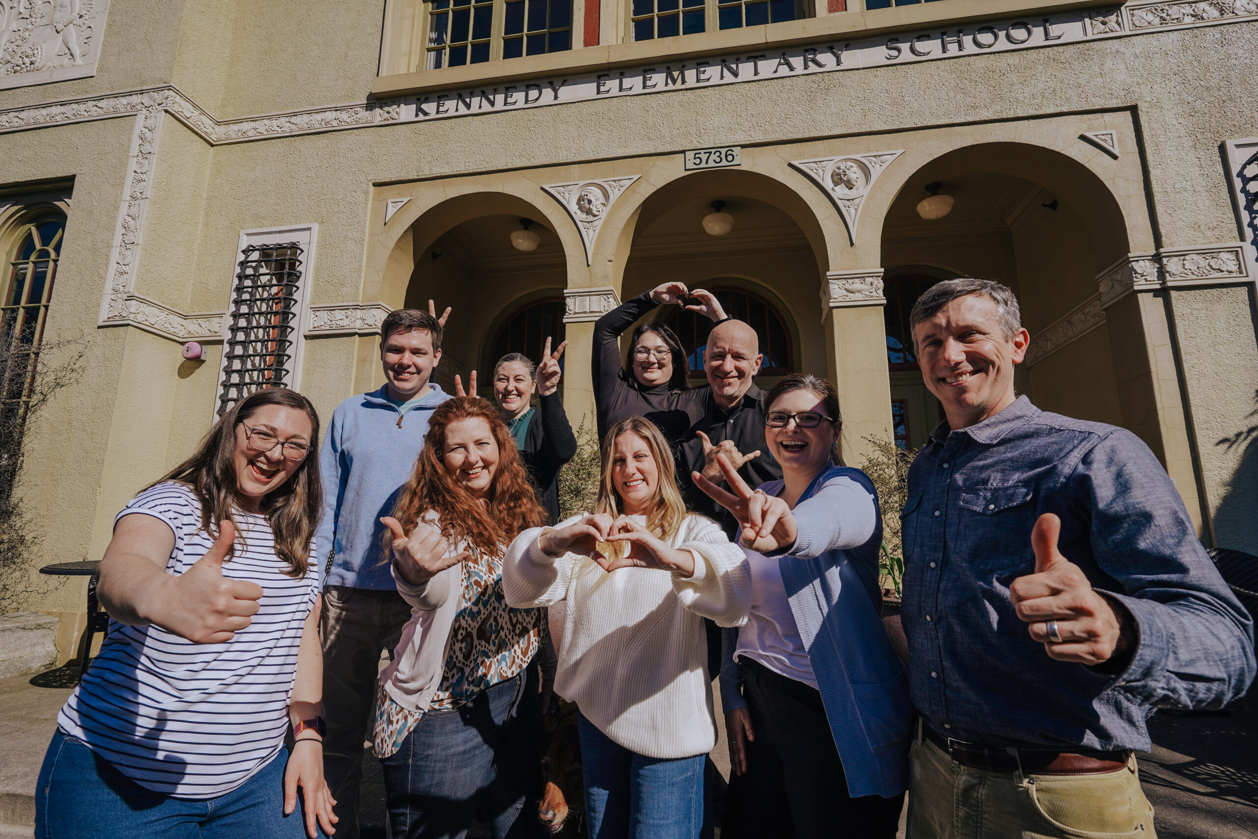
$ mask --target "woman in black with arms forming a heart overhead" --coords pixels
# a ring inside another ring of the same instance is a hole
[[[711,292],[664,283],[618,306],[594,325],[594,401],[599,440],[629,416],[645,416],[674,449],[703,415],[702,400],[691,390],[686,350],[663,323],[642,323],[633,331],[629,355],[620,361],[620,335],[659,306],[681,306],[713,322],[728,319]]]

